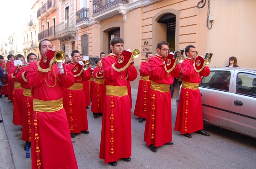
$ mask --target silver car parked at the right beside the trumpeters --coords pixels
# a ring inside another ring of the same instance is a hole
[[[256,138],[255,69],[210,68],[199,89],[205,122]]]

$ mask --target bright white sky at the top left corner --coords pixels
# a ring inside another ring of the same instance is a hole
[[[10,37],[30,19],[34,2],[35,0],[0,0],[0,41]]]

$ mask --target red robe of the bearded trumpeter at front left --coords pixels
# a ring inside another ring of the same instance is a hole
[[[60,75],[55,64],[49,72],[39,72],[37,63],[31,62],[28,66],[27,80],[32,86],[33,110],[35,110],[35,99],[37,102],[42,103],[44,101],[52,103],[58,100],[58,104],[48,104],[45,107],[41,105],[44,111],[34,111],[33,113],[32,169],[35,169],[37,165],[38,156],[35,150],[38,146],[40,150],[39,162],[43,169],[77,169],[74,148],[69,134],[69,123],[66,112],[60,102],[63,96],[62,86],[68,88],[73,85],[74,75],[68,70],[63,75]],[[52,109],[56,111],[52,111]],[[35,137],[37,133],[38,136]],[[39,141],[37,138],[39,138]]]

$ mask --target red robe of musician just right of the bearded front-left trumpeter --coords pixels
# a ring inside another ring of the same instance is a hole
[[[65,65],[65,69],[71,71],[75,64],[73,62]],[[83,71],[78,77],[74,77],[75,84],[80,84],[83,87],[83,81],[87,81],[90,78],[89,71]],[[88,130],[88,119],[85,105],[84,89],[64,89],[64,102],[63,106],[67,114],[69,121],[70,133],[80,133],[83,130]],[[69,103],[72,103],[70,105]],[[71,110],[71,111],[70,111]],[[70,119],[72,117],[73,120]]]

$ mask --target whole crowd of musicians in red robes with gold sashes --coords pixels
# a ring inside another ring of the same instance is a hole
[[[131,85],[138,72],[133,65],[133,51],[123,50],[123,39],[110,41],[111,53],[93,63],[83,61],[79,51],[71,53],[72,61],[62,62],[47,39],[39,43],[40,60],[30,53],[27,64],[16,55],[22,66],[14,66],[9,55],[0,64],[5,70],[1,79],[2,95],[13,103],[13,124],[22,125],[25,147],[31,146],[32,169],[78,168],[71,137],[89,133],[87,108],[91,104],[94,118],[102,116],[99,158],[116,166],[118,160],[131,161]],[[182,88],[175,131],[187,138],[192,133],[210,136],[203,130],[202,101],[198,85],[209,67],[196,47],[185,48],[186,59],[177,63],[169,52],[169,43],[159,42],[157,53],[146,53],[140,65],[140,80],[134,115],[146,121],[144,141],[149,150],[173,145],[170,85],[182,74]],[[88,66],[87,66],[88,65]],[[92,102],[90,102],[90,100]]]

